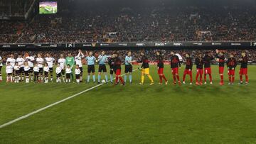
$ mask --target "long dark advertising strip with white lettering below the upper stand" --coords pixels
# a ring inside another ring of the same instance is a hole
[[[228,48],[256,47],[256,42],[177,42],[177,43],[35,43],[0,44],[0,48]]]

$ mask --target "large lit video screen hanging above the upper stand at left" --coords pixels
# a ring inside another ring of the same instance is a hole
[[[43,1],[39,3],[40,14],[57,13],[57,1]]]

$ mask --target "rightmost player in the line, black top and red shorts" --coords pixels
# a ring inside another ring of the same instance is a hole
[[[240,84],[242,84],[242,75],[245,75],[245,84],[248,84],[248,74],[247,74],[247,65],[248,65],[248,57],[246,56],[245,52],[242,52],[242,57],[239,59],[241,62],[240,68]]]

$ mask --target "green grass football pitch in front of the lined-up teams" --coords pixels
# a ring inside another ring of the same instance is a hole
[[[167,86],[158,85],[152,65],[153,86],[147,77],[139,85],[139,70],[125,86],[1,82],[0,126],[95,88],[0,128],[0,143],[256,143],[256,66],[248,68],[248,85],[238,84],[239,67],[234,85],[228,85],[225,67],[224,86],[218,84],[218,66],[212,67],[213,85],[189,85],[188,76],[186,85],[174,85],[169,65]],[[193,80],[195,74],[194,66]]]

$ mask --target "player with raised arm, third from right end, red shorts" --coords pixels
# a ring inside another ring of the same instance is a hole
[[[216,53],[217,53],[217,55],[215,55],[216,61],[219,63],[220,85],[223,85],[224,84],[223,74],[224,74],[225,56],[224,56],[224,53],[220,52],[219,50],[216,50]]]

